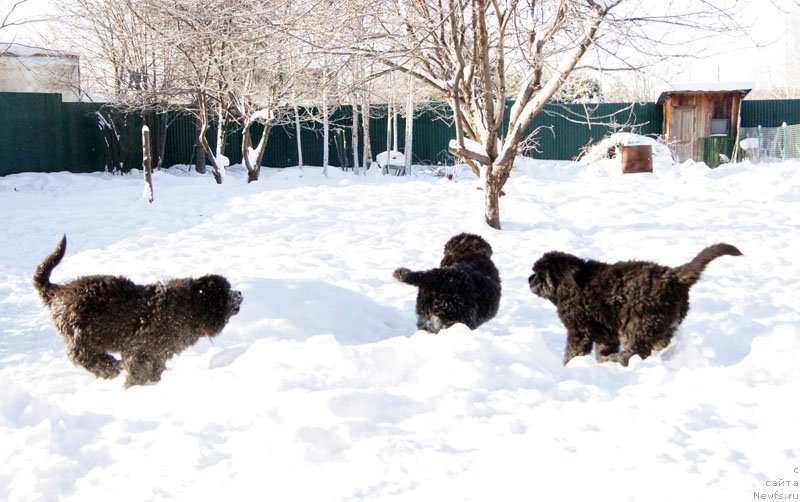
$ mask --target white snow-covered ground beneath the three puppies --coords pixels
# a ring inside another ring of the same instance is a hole
[[[800,163],[524,162],[483,223],[474,178],[234,166],[218,186],[0,178],[0,500],[732,501],[800,498]],[[415,289],[468,231],[495,250],[497,317],[415,332]],[[226,275],[241,313],[123,388],[73,366],[31,286]],[[527,286],[559,249],[678,265],[725,241],[663,356],[561,365]]]

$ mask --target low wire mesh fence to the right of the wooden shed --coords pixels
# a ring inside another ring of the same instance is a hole
[[[752,162],[800,159],[800,124],[780,127],[742,127],[739,130],[741,158]]]

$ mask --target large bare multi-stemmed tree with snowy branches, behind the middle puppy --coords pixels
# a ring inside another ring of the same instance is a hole
[[[588,60],[590,48],[605,66],[625,66],[626,50],[677,52],[678,45],[660,27],[680,28],[695,41],[697,32],[738,27],[735,14],[712,0],[673,0],[647,12],[633,0],[396,0],[381,5],[386,8],[376,15],[382,45],[369,40],[360,44],[362,52],[447,99],[456,130],[449,150],[480,177],[484,216],[494,228],[500,228],[499,198],[514,158],[529,145],[531,121]]]

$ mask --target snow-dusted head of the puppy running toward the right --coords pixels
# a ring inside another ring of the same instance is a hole
[[[190,288],[195,319],[203,334],[219,334],[228,319],[239,313],[242,293],[232,290],[228,280],[221,275],[193,279]]]

